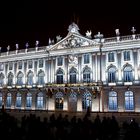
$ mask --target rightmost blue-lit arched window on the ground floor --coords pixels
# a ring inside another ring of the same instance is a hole
[[[132,91],[125,92],[125,109],[134,110],[134,95]]]

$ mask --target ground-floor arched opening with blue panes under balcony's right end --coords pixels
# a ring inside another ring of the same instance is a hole
[[[91,108],[92,105],[92,95],[89,91],[84,92],[82,97],[82,108],[87,109],[88,107]]]

